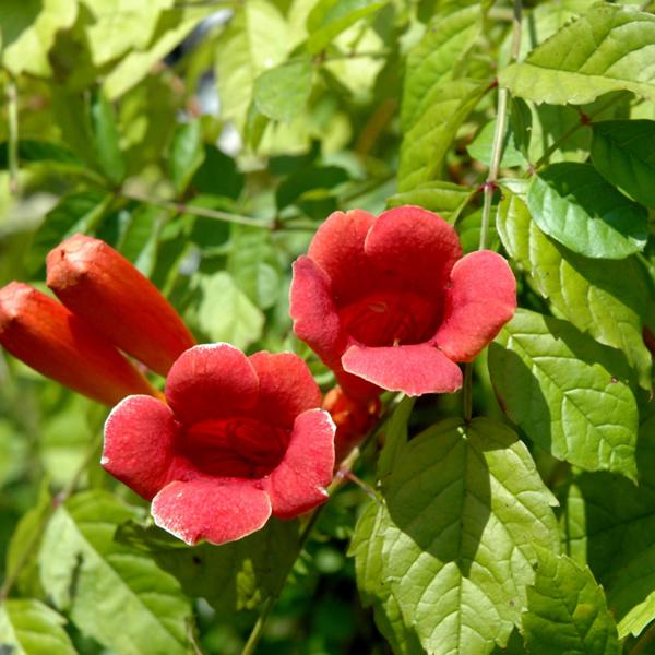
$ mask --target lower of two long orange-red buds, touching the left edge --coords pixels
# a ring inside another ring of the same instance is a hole
[[[0,344],[44,376],[106,405],[134,393],[159,396],[109,342],[28,284],[0,289]]]

